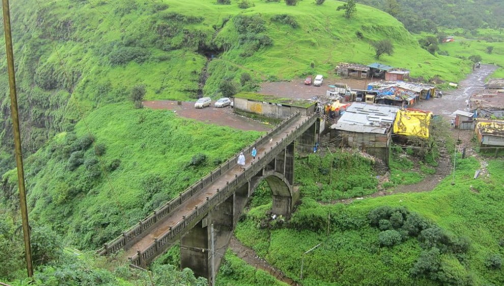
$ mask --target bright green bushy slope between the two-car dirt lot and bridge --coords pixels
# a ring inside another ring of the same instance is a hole
[[[131,104],[99,108],[85,120],[25,164],[31,218],[81,249],[119,235],[261,134]],[[15,176],[3,178],[5,203],[17,198]]]

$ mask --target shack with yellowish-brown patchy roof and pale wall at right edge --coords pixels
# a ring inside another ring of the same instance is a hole
[[[477,119],[474,132],[480,147],[504,147],[504,121]]]

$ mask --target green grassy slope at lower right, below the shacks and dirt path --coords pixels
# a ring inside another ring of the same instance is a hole
[[[499,246],[504,237],[500,219],[504,211],[499,207],[504,202],[504,178],[499,176],[502,167],[504,162],[492,160],[488,166],[490,175],[473,180],[474,170],[480,168],[478,161],[458,158],[454,185],[450,176],[431,192],[369,198],[350,205],[322,206],[305,194],[287,224],[270,222],[265,227],[265,212],[271,203],[261,205],[250,210],[238,225],[236,236],[293,278],[299,277],[302,253],[322,243],[304,255],[303,285],[432,285],[440,281],[502,284],[502,271],[487,266],[492,255],[502,256],[503,252]],[[413,275],[421,253],[427,251],[425,242],[405,237],[395,246],[380,246],[380,230],[370,224],[368,213],[381,206],[405,207],[418,213],[449,237],[458,238],[454,241],[466,240],[466,252],[441,252],[425,266],[436,269],[433,271],[437,274]]]

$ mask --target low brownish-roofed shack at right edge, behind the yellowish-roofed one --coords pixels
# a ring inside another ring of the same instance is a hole
[[[504,119],[504,90],[483,90],[472,94],[469,109],[478,118]]]

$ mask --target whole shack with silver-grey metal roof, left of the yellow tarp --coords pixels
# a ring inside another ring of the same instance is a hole
[[[331,129],[337,144],[365,150],[387,165],[392,124],[398,107],[353,102]]]

